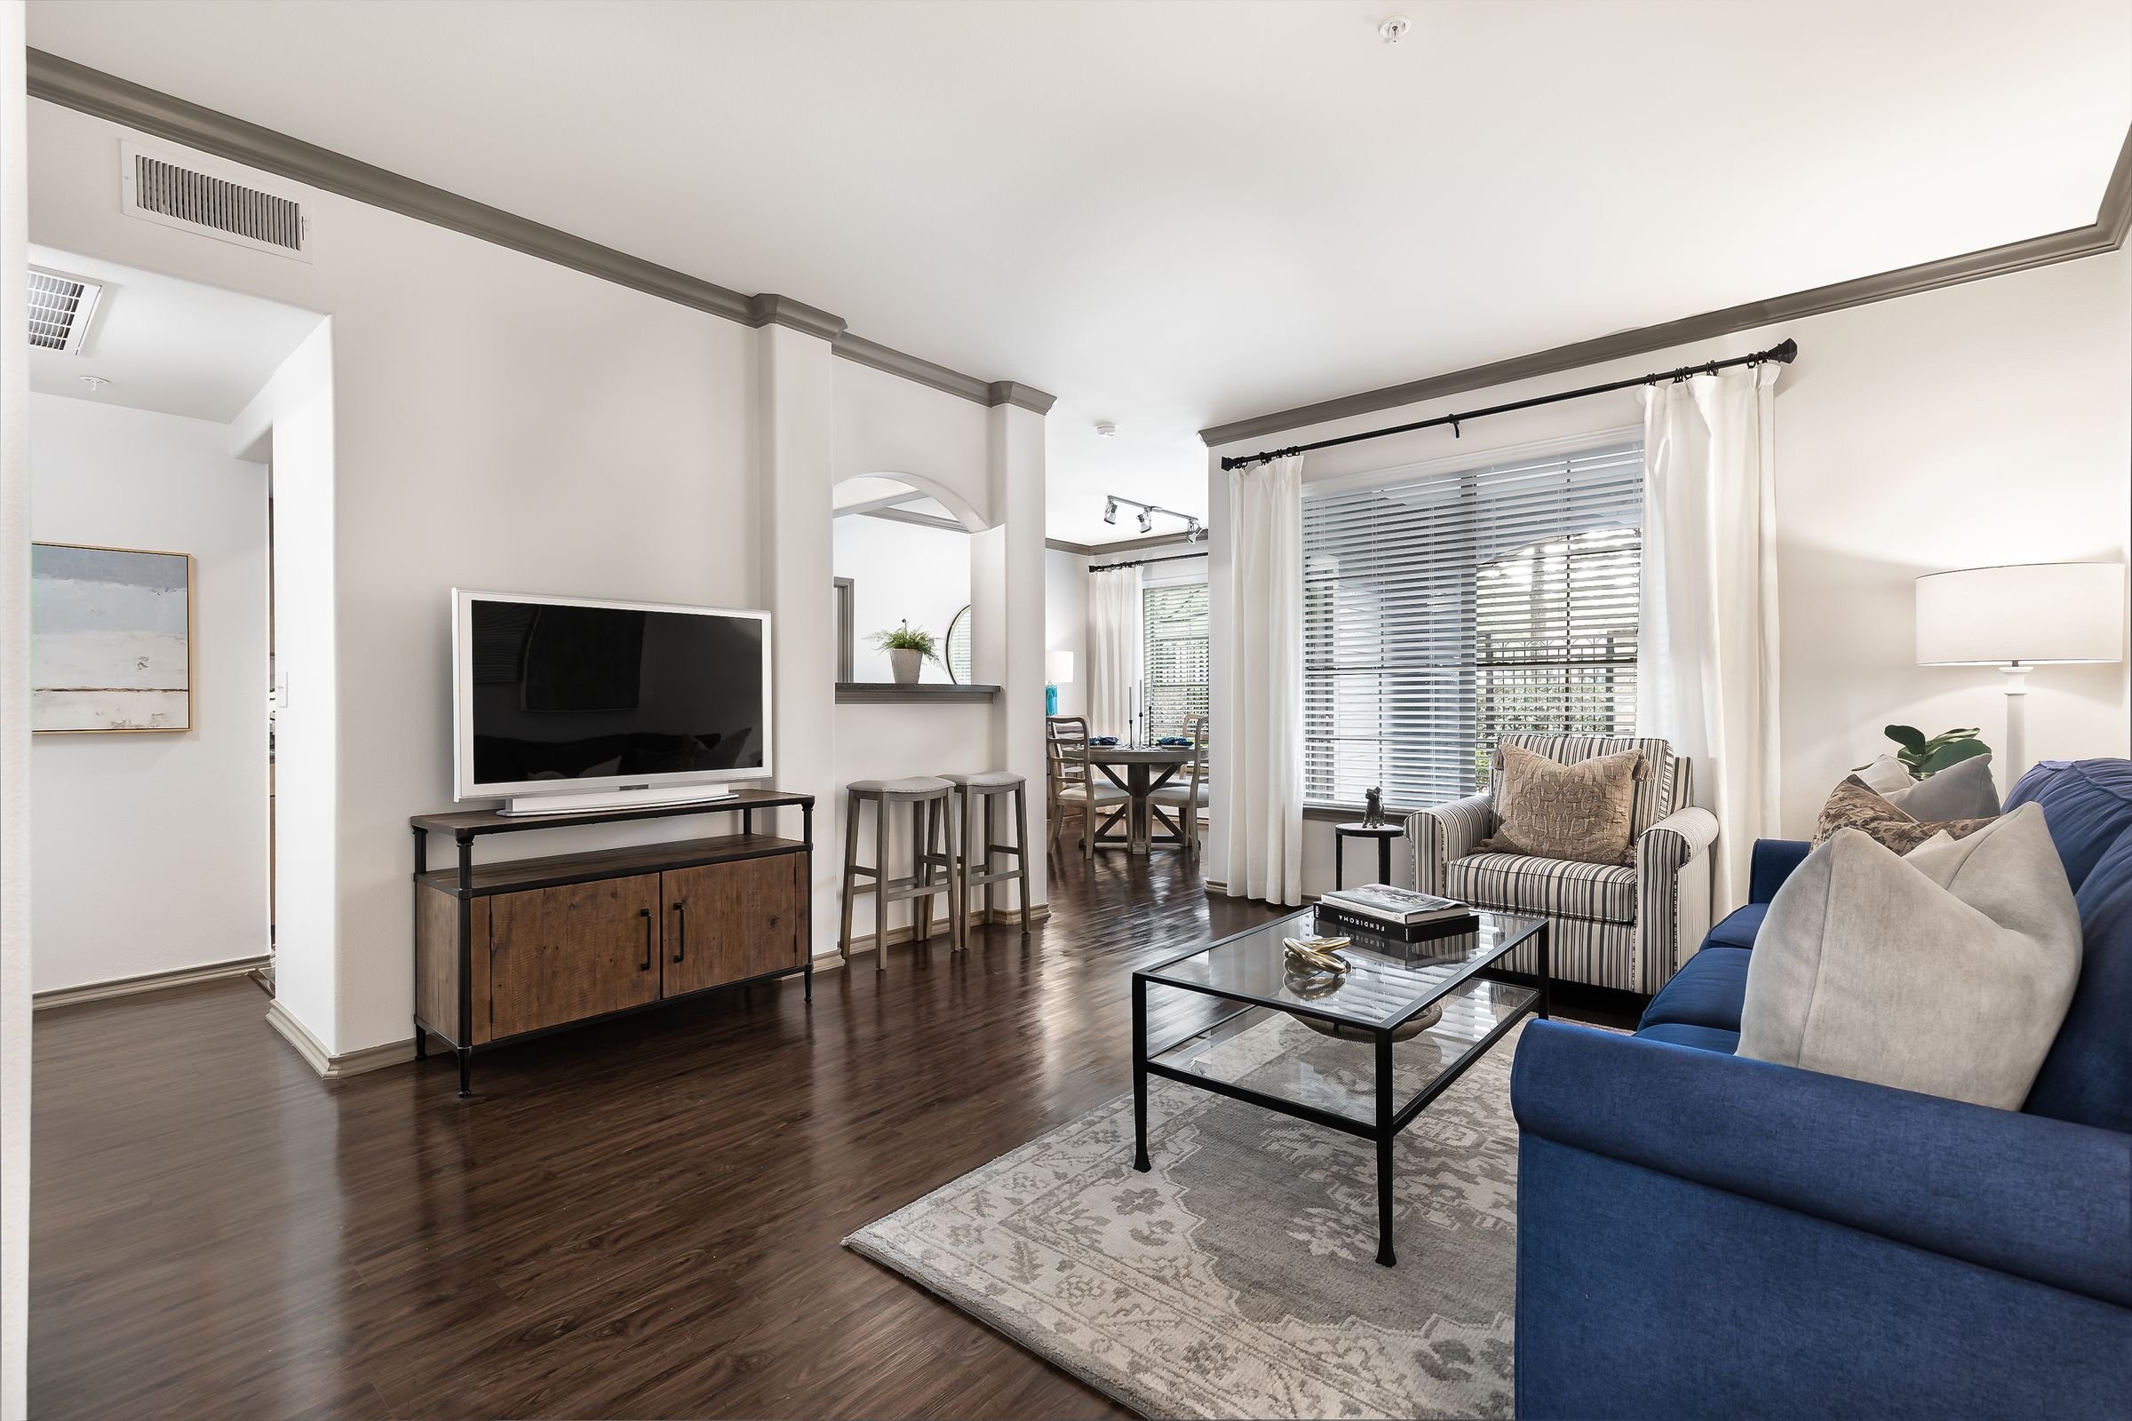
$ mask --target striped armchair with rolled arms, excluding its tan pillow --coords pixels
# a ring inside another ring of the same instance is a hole
[[[1501,744],[1563,765],[1642,750],[1650,778],[1635,782],[1629,810],[1631,863],[1473,852],[1497,824],[1495,790],[1503,784],[1497,756],[1488,793],[1407,816],[1414,882],[1473,908],[1548,918],[1556,980],[1659,991],[1710,931],[1710,846],[1718,820],[1689,803],[1689,758],[1663,739],[1614,735],[1505,735]],[[1535,971],[1539,961],[1520,948],[1505,965]]]

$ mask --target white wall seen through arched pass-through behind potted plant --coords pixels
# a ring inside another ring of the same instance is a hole
[[[874,648],[874,633],[908,620],[912,631],[930,631],[940,660],[919,667],[919,682],[947,684],[947,628],[970,607],[970,535],[959,528],[927,528],[891,518],[846,513],[836,520],[831,567],[851,577],[851,631],[855,682],[893,682],[889,654]],[[998,616],[998,609],[991,609]],[[970,618],[983,616],[970,609]]]

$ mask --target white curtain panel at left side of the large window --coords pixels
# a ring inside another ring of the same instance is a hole
[[[1230,897],[1303,901],[1303,456],[1228,471]]]

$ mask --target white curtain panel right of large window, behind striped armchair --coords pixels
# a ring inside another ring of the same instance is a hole
[[[1695,758],[1695,799],[1718,816],[1718,914],[1746,901],[1755,839],[1778,831],[1772,405],[1782,369],[1644,390],[1635,733]]]

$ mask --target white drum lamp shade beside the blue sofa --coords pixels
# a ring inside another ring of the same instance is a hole
[[[1917,579],[1917,665],[2119,660],[2121,562],[1966,567]]]

